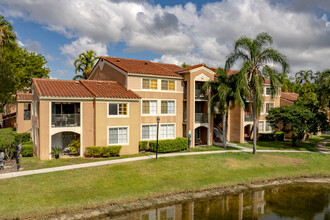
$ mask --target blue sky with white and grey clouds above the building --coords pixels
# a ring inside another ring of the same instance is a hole
[[[90,49],[223,67],[237,39],[261,32],[288,57],[290,74],[330,68],[330,0],[0,0],[0,14],[57,79],[72,79],[74,59]]]

